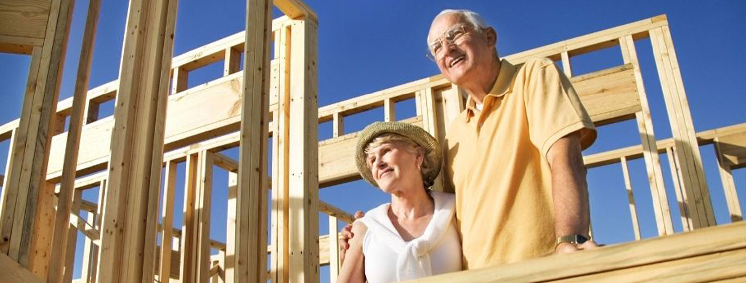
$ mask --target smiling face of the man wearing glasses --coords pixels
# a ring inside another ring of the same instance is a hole
[[[458,40],[454,40],[454,43],[442,40],[444,33],[451,33],[459,26],[466,27],[463,30],[466,32]],[[475,79],[480,81],[479,76],[489,76],[495,53],[495,33],[492,29],[480,31],[459,14],[446,14],[433,22],[427,34],[430,46],[438,40],[442,50],[434,57],[440,72],[448,81],[463,84]]]

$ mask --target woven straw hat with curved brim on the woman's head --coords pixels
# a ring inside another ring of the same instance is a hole
[[[440,173],[440,167],[442,164],[442,155],[440,153],[440,146],[433,136],[424,131],[424,129],[404,123],[404,122],[374,122],[368,125],[363,131],[360,131],[357,137],[357,147],[355,148],[355,164],[357,165],[357,171],[360,175],[368,181],[369,184],[378,187],[378,183],[374,180],[371,175],[371,170],[366,165],[366,147],[376,137],[381,134],[399,134],[413,140],[415,143],[422,146],[425,151],[424,158],[428,158],[433,161],[433,170],[429,170],[427,174],[422,175],[422,181],[424,184],[433,184],[433,181]]]

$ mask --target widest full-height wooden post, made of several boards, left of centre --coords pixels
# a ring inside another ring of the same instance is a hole
[[[178,0],[131,0],[116,96],[98,282],[153,282]]]

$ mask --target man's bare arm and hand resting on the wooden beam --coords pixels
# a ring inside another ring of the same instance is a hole
[[[588,236],[590,208],[580,133],[576,131],[557,140],[547,152],[547,161],[552,174],[555,234]],[[596,243],[591,240],[580,245],[560,243],[555,252],[574,252],[595,246]]]

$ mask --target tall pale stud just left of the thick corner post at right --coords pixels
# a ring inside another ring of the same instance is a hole
[[[645,170],[648,172],[648,183],[650,184],[651,197],[653,198],[653,208],[658,224],[658,234],[674,234],[674,225],[671,220],[671,208],[668,205],[668,194],[665,191],[665,182],[663,181],[663,172],[660,167],[660,157],[658,155],[658,144],[653,132],[653,120],[651,119],[650,108],[648,107],[648,96],[645,94],[645,86],[642,84],[642,72],[640,72],[639,62],[635,43],[631,35],[619,38],[621,55],[624,63],[631,63],[635,74],[637,84],[637,94],[640,100],[642,110],[635,113],[637,120],[637,129],[640,134],[642,143],[642,155],[645,159]]]

